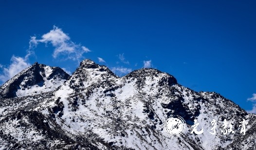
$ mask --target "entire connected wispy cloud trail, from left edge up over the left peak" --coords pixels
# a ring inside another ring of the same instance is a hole
[[[71,38],[64,33],[60,28],[54,26],[53,30],[45,33],[40,39],[36,36],[32,36],[29,41],[29,49],[24,57],[12,56],[11,64],[3,66],[0,64],[0,81],[3,83],[8,79],[18,74],[23,69],[29,67],[29,57],[34,55],[34,49],[40,43],[51,44],[55,47],[53,57],[56,59],[58,56],[63,55],[66,59],[81,61],[84,53],[88,53],[91,50],[80,44],[75,44],[71,41]],[[71,74],[66,70],[67,73]]]

